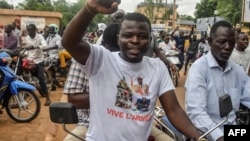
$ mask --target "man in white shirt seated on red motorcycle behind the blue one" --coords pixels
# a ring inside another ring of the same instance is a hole
[[[44,76],[44,54],[43,49],[47,49],[47,43],[44,37],[38,34],[36,25],[30,24],[27,27],[28,36],[25,38],[26,46],[30,50],[25,52],[25,57],[29,60],[33,60],[36,63],[36,75],[39,79],[39,84],[41,86],[41,91],[46,97],[45,106],[49,106],[51,103],[48,88],[45,82]]]

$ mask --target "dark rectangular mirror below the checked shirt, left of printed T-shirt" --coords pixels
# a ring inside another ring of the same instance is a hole
[[[72,103],[53,102],[49,106],[50,120],[54,123],[76,124],[78,116]]]

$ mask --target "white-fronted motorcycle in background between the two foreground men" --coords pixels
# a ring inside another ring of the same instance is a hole
[[[179,51],[176,50],[169,50],[165,52],[165,56],[167,57],[167,59],[177,67],[176,70],[170,68],[169,72],[175,87],[178,86],[178,81],[179,81],[179,66],[181,64],[179,59],[179,54],[180,54]]]

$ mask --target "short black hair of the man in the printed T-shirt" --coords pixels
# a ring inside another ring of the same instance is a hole
[[[125,20],[129,20],[129,21],[137,21],[137,22],[146,22],[148,23],[149,26],[149,31],[151,31],[151,22],[148,19],[148,17],[146,17],[145,15],[139,13],[139,12],[133,12],[133,13],[127,13],[124,18],[121,21],[121,24],[125,21]],[[119,30],[120,30],[120,26],[119,26]]]

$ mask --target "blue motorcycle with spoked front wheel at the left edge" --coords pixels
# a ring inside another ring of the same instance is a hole
[[[7,62],[11,60],[6,52],[0,53],[0,105],[14,121],[30,122],[40,113],[40,100],[35,87],[17,79]]]

